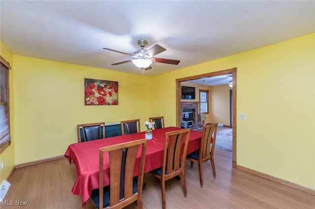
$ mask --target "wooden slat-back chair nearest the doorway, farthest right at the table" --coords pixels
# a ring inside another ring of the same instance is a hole
[[[217,130],[218,130],[217,123],[203,126],[200,149],[187,155],[187,159],[191,161],[191,167],[193,165],[193,162],[198,163],[201,187],[203,187],[202,163],[210,160],[211,166],[212,166],[213,177],[217,178],[216,168],[215,168],[215,159],[214,159]]]

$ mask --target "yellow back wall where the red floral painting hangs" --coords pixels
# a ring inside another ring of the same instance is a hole
[[[13,55],[15,164],[63,155],[76,124],[151,116],[151,78]],[[84,105],[84,78],[118,81],[119,105]],[[144,125],[141,129],[144,131]]]

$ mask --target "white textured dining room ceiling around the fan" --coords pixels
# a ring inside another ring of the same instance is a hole
[[[0,38],[14,54],[142,74],[138,39],[166,48],[147,76],[315,32],[315,1],[0,1]],[[232,66],[235,67],[235,66]]]

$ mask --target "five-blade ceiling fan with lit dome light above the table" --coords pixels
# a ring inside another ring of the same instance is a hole
[[[127,63],[127,62],[132,62],[135,66],[137,66],[141,70],[152,69],[152,67],[151,67],[152,62],[160,62],[160,63],[173,64],[173,65],[178,65],[178,63],[180,62],[180,60],[154,57],[158,53],[164,52],[166,49],[161,47],[160,45],[156,44],[153,47],[151,47],[150,49],[145,50],[144,47],[147,46],[147,44],[148,44],[147,40],[144,40],[144,39],[138,40],[138,45],[141,47],[141,49],[133,52],[133,54],[126,53],[126,52],[120,52],[120,51],[112,50],[112,49],[108,49],[108,48],[103,48],[103,49],[109,50],[112,52],[118,52],[118,53],[126,54],[126,55],[129,55],[129,56],[135,58],[135,59],[130,59],[130,60],[122,61],[122,62],[117,62],[117,63],[114,63],[112,65],[120,65],[120,64]]]

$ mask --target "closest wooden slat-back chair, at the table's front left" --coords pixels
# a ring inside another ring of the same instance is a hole
[[[91,193],[91,199],[97,209],[122,209],[135,201],[137,207],[142,209],[146,143],[146,139],[140,139],[99,148],[99,188]],[[137,160],[140,145],[141,158]],[[109,156],[110,184],[103,186],[103,161],[106,152]],[[138,178],[133,178],[134,169],[139,169]]]

